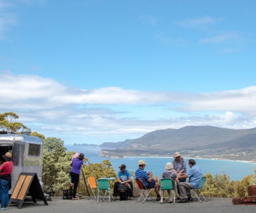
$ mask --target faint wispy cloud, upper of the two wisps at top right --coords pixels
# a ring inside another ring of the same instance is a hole
[[[177,21],[174,21],[174,24],[177,26],[186,27],[186,28],[204,28],[216,22],[217,22],[216,19],[205,16],[205,17],[200,17],[195,19],[186,18],[183,20],[177,20]]]

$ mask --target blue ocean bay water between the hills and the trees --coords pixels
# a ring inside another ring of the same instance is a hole
[[[68,151],[74,151],[77,153],[84,153],[84,156],[88,158],[90,163],[100,163],[105,159],[108,159],[113,168],[118,171],[118,167],[121,164],[125,164],[127,169],[135,172],[138,168],[137,163],[139,160],[146,161],[145,170],[147,172],[151,171],[154,176],[160,177],[165,171],[165,165],[167,162],[172,162],[173,158],[166,157],[126,157],[126,158],[105,158],[100,157],[99,148],[94,147],[75,147],[73,145],[65,145]],[[186,164],[188,159],[186,159]],[[193,158],[201,167],[203,174],[211,173],[212,176],[215,174],[227,174],[230,176],[230,180],[241,181],[247,175],[254,174],[254,168],[256,163],[249,163],[244,161],[228,161],[228,160],[211,160],[211,159],[201,159]],[[187,170],[189,166],[187,165]]]

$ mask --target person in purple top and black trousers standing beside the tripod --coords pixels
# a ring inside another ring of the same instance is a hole
[[[79,182],[79,176],[81,173],[81,166],[84,164],[84,154],[80,153],[77,158],[73,158],[71,163],[71,170],[70,170],[70,176],[73,187],[73,193],[72,193],[72,200],[78,200],[79,198],[76,198],[76,189]]]

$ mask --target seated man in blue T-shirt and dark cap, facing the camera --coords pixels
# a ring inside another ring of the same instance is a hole
[[[113,196],[114,200],[116,200],[116,196],[118,194],[117,187],[119,184],[125,184],[127,186],[128,195],[130,196],[130,200],[133,200],[133,184],[131,181],[131,173],[126,169],[125,164],[122,164],[118,167],[120,171],[117,174],[117,181],[114,184]],[[129,185],[128,185],[129,184]]]

